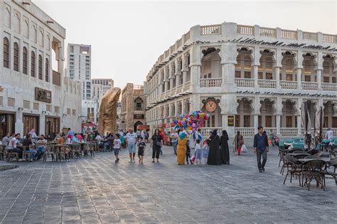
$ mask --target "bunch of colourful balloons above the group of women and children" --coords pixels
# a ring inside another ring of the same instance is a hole
[[[183,128],[192,130],[193,132],[198,129],[198,127],[203,127],[203,122],[210,118],[210,114],[206,114],[200,110],[194,111],[192,114],[180,114],[174,119],[174,124],[176,126],[174,129]]]

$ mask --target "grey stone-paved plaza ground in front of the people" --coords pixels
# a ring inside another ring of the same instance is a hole
[[[266,173],[250,150],[230,166],[178,166],[171,147],[160,163],[129,164],[127,152],[55,163],[20,162],[0,172],[0,223],[337,223],[337,187],[299,187],[269,153]]]

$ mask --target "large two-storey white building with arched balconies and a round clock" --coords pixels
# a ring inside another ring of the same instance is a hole
[[[178,114],[210,114],[203,134],[226,129],[252,137],[262,125],[278,136],[301,136],[299,107],[337,134],[337,36],[222,23],[193,26],[159,56],[144,91],[146,124]]]

